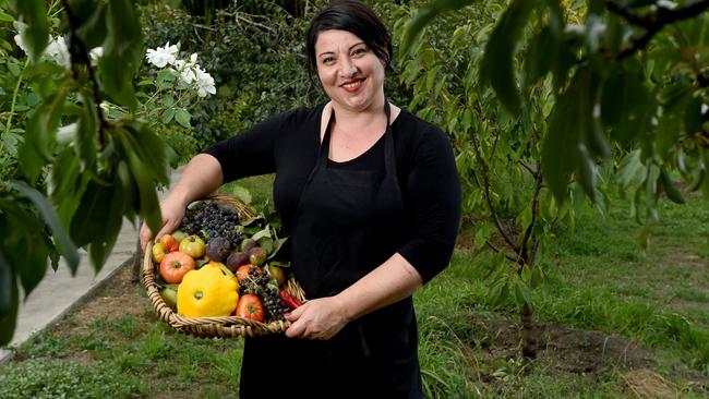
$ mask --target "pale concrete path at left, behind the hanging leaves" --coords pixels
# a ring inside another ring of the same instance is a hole
[[[179,171],[172,173],[171,184],[177,181],[178,177]],[[160,196],[163,194],[160,193]],[[103,281],[119,271],[127,261],[131,261],[136,242],[137,226],[133,227],[128,219],[123,219],[116,246],[98,274],[95,274],[88,256],[83,250],[80,251],[81,263],[73,277],[63,259],[56,273],[51,267],[47,267],[45,278],[29,293],[26,301],[22,300],[23,294],[21,293],[17,325],[10,347],[20,346],[35,334],[58,323],[74,306],[91,297]],[[10,359],[12,359],[12,351],[0,348],[0,363]]]

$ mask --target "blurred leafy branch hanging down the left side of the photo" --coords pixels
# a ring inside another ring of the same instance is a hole
[[[156,186],[168,184],[166,144],[136,118],[133,77],[143,62],[143,36],[131,0],[11,0],[15,41],[29,61],[16,74],[13,95],[27,80],[36,108],[26,119],[17,169],[0,184],[0,344],[14,330],[20,290],[27,295],[59,257],[72,271],[77,247],[98,271],[111,253],[124,217],[142,216],[159,230]],[[51,17],[65,37],[52,37]],[[129,111],[108,116],[106,101]],[[12,114],[3,125],[12,126]],[[3,141],[5,140],[3,135]]]

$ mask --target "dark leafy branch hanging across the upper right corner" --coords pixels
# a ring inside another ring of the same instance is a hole
[[[431,1],[412,19],[402,49],[410,51],[436,15],[471,3]],[[661,178],[673,170],[709,194],[700,172],[709,143],[709,34],[700,16],[709,1],[589,0],[581,24],[567,23],[568,3],[508,2],[479,69],[480,81],[518,118],[529,111],[522,92],[553,80],[542,170],[557,201],[567,198],[572,180],[596,198],[598,164],[610,158],[611,143],[638,146],[648,170],[664,171],[646,173],[649,197],[677,194]],[[677,157],[692,161],[680,168]]]

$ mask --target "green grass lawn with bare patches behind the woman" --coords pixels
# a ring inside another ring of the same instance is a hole
[[[269,181],[245,184],[255,203],[269,197]],[[531,361],[519,356],[514,306],[488,299],[485,258],[456,250],[414,295],[426,396],[709,396],[706,205],[663,203],[647,251],[622,201],[560,231],[542,257],[549,281],[533,292],[541,350]],[[236,397],[241,349],[239,339],[173,332],[127,269],[0,366],[0,398]],[[280,362],[297,360],[274,360],[265,372],[275,382]]]

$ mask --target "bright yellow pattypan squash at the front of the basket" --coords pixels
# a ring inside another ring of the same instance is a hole
[[[237,281],[219,267],[191,270],[178,287],[178,313],[187,317],[228,316],[237,309]]]

